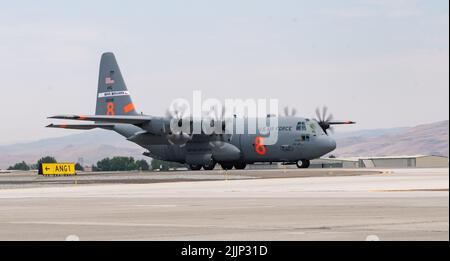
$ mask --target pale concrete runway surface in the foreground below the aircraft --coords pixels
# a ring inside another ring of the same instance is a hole
[[[449,240],[448,168],[147,175],[2,174],[0,240]]]

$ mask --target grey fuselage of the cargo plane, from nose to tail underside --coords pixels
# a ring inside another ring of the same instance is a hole
[[[117,124],[116,132],[149,150],[147,156],[187,164],[215,162],[297,162],[319,158],[336,148],[317,121],[299,117],[278,118],[278,139],[264,145],[258,153],[255,134],[194,135],[182,145],[169,144],[157,135],[139,135],[142,129],[130,124]],[[138,135],[137,135],[138,134]],[[136,138],[138,137],[138,138]],[[260,148],[259,148],[260,149]]]

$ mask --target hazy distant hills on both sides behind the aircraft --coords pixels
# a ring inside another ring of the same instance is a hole
[[[448,156],[449,121],[423,124],[416,127],[361,130],[336,133],[336,156],[386,156],[433,154]],[[91,165],[105,157],[142,155],[145,149],[128,142],[117,133],[106,130],[86,131],[59,138],[0,146],[0,169],[22,160],[35,163],[50,155],[58,161]]]

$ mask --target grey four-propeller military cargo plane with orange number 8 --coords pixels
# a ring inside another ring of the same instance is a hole
[[[288,110],[285,110],[288,114]],[[293,113],[295,114],[295,113]],[[310,160],[319,158],[336,148],[336,142],[328,136],[332,125],[354,124],[352,121],[332,121],[324,107],[316,110],[317,119],[285,115],[278,117],[278,138],[274,144],[265,145],[264,136],[254,134],[173,132],[171,123],[182,125],[176,109],[166,117],[138,114],[122,78],[113,53],[104,53],[100,61],[97,105],[95,115],[58,115],[50,119],[93,121],[93,124],[50,124],[47,127],[90,130],[113,130],[127,140],[147,149],[143,153],[156,159],[187,164],[191,170],[212,170],[220,164],[225,170],[233,167],[244,169],[256,162],[282,162],[308,168]],[[271,117],[267,115],[267,117]],[[193,120],[188,121],[192,127]],[[225,129],[229,121],[223,118],[212,121],[211,126]],[[236,116],[231,123],[236,121]],[[245,119],[248,122],[248,119]],[[189,124],[188,124],[189,125]]]

